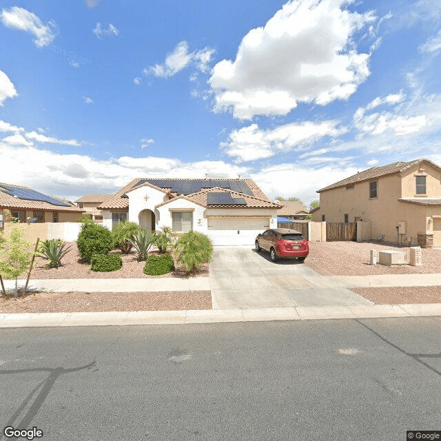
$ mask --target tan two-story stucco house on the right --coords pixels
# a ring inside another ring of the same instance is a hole
[[[314,221],[367,221],[371,239],[441,247],[441,168],[427,159],[372,167],[318,193]]]

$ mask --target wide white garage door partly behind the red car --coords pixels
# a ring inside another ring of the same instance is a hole
[[[259,233],[269,228],[269,217],[208,218],[208,236],[213,245],[254,245]]]

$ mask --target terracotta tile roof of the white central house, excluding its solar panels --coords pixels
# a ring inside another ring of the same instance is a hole
[[[101,205],[99,205],[99,209],[128,209],[129,207],[129,199],[128,198],[122,198],[121,196],[123,196],[123,194],[134,190],[136,188],[140,188],[143,185],[148,185],[149,187],[158,189],[159,191],[165,193],[165,194],[169,194],[171,197],[173,197],[174,199],[177,197],[176,194],[171,193],[170,192],[170,188],[161,188],[161,187],[156,187],[156,185],[152,185],[150,183],[143,183],[141,185],[136,185],[136,187],[133,187],[133,185],[135,185],[136,183],[138,183],[141,180],[146,180],[149,178],[135,178],[132,181],[130,181],[130,183],[128,183],[127,185],[125,185],[125,187],[121,188],[118,192],[116,192],[115,194],[113,194],[112,196],[110,196],[110,198],[107,199],[107,201],[103,202]],[[152,178],[154,179],[154,178]],[[182,178],[158,178],[164,181],[204,181],[203,179],[182,179]],[[212,180],[216,180],[216,181],[236,181],[233,179],[228,179],[228,178],[211,178]],[[210,205],[210,207],[232,207],[232,208],[246,208],[246,207],[252,207],[252,208],[256,208],[256,207],[271,207],[271,208],[280,208],[280,205],[277,205],[276,203],[273,203],[269,200],[269,198],[267,198],[267,196],[265,195],[265,193],[260,189],[260,187],[258,187],[258,185],[252,181],[252,179],[244,179],[243,181],[245,181],[245,183],[248,185],[249,189],[252,191],[252,193],[254,194],[254,196],[248,196],[246,194],[243,193],[238,193],[238,192],[232,192],[231,190],[228,189],[223,189],[220,187],[216,187],[216,192],[217,191],[222,191],[222,192],[228,192],[231,193],[232,195],[234,195],[235,198],[245,198],[245,201],[247,202],[247,205]],[[202,189],[200,192],[196,192],[194,194],[188,194],[187,196],[185,196],[186,198],[189,198],[190,201],[199,203],[200,205],[203,205],[204,207],[207,206],[207,192],[213,192],[215,190],[215,188],[207,188],[207,189]],[[182,195],[184,196],[184,195]],[[170,201],[165,201],[165,203],[169,203]],[[156,205],[156,207],[159,207],[161,205],[165,205],[165,203],[161,203],[159,205]]]

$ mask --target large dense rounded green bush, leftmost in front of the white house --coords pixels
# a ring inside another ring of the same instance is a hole
[[[76,245],[81,257],[88,260],[93,254],[107,254],[114,249],[112,233],[96,223],[83,223]]]

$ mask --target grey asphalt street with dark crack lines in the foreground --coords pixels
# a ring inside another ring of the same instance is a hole
[[[11,426],[37,427],[43,441],[389,441],[441,430],[440,317],[0,337],[2,434]]]

